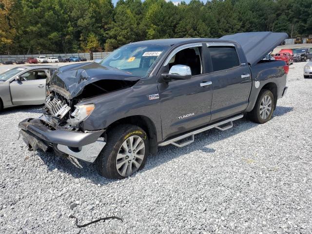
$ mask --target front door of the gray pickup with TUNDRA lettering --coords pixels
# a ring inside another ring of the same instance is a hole
[[[171,56],[162,73],[169,72],[173,65],[187,65],[192,78],[158,84],[163,139],[206,125],[211,117],[212,86],[204,75],[201,43]]]

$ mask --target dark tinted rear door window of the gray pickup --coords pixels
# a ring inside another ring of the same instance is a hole
[[[239,66],[234,47],[209,47],[214,72]]]

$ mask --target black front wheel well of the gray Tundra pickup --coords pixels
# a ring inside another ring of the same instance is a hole
[[[107,128],[107,131],[110,131],[110,129],[114,128],[118,124],[133,124],[137,125],[138,127],[142,128],[147,136],[149,137],[150,141],[150,153],[156,154],[157,153],[157,134],[156,134],[156,127],[152,120],[145,116],[130,116],[118,119],[117,121],[110,124]]]

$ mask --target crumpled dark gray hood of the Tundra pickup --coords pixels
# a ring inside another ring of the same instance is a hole
[[[60,67],[48,83],[53,91],[72,99],[80,95],[86,85],[103,79],[137,81],[140,78],[96,62],[86,62]]]

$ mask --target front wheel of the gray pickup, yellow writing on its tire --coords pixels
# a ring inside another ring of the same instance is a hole
[[[133,146],[139,140],[136,149],[142,147],[143,143],[144,150],[142,148],[136,153],[131,152],[131,149],[128,148],[131,143],[130,139],[133,139]],[[128,152],[126,152],[125,146],[129,149]],[[123,179],[131,176],[144,167],[148,154],[149,140],[144,130],[136,125],[121,124],[107,133],[106,145],[96,160],[98,174],[111,179]],[[124,156],[122,157],[122,155]]]

